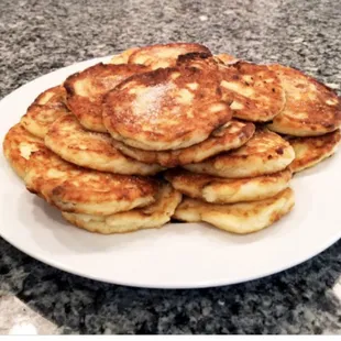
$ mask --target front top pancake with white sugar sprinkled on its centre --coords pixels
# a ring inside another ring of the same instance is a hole
[[[146,151],[200,143],[230,120],[219,74],[194,67],[132,76],[105,99],[103,123],[112,138]]]

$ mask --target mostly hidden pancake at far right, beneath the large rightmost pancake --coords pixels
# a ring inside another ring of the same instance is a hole
[[[295,151],[295,160],[290,164],[294,173],[312,167],[336,153],[341,140],[340,130],[322,136],[294,138],[289,143]]]

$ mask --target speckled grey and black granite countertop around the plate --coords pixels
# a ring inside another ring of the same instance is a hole
[[[0,97],[75,62],[169,41],[279,61],[339,90],[340,18],[332,0],[2,0]],[[338,242],[246,284],[138,289],[52,268],[0,239],[0,333],[341,333],[340,275]]]

